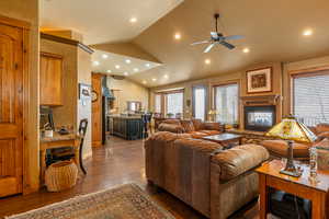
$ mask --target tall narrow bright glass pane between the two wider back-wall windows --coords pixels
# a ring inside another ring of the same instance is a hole
[[[193,117],[205,120],[206,115],[206,88],[193,88]]]

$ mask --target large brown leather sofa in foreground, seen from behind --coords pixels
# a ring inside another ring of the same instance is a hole
[[[224,219],[259,195],[253,171],[269,159],[261,146],[222,146],[160,131],[145,141],[147,180],[212,219]]]

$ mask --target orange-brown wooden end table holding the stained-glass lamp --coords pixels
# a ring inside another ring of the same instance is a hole
[[[284,168],[281,160],[265,162],[256,170],[259,173],[260,219],[266,219],[269,212],[270,187],[311,200],[311,218],[326,218],[329,171],[318,171],[319,183],[311,183],[308,180],[308,165],[300,164],[300,166],[304,170],[300,177],[280,174],[280,170]]]

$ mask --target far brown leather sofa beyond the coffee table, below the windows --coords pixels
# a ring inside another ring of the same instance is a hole
[[[163,120],[159,131],[170,131],[174,134],[190,134],[193,138],[218,135],[225,131],[225,126],[219,123],[203,123],[201,119],[168,119]]]

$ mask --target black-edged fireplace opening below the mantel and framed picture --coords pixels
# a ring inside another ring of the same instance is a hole
[[[245,129],[266,131],[276,122],[275,105],[245,106]]]

